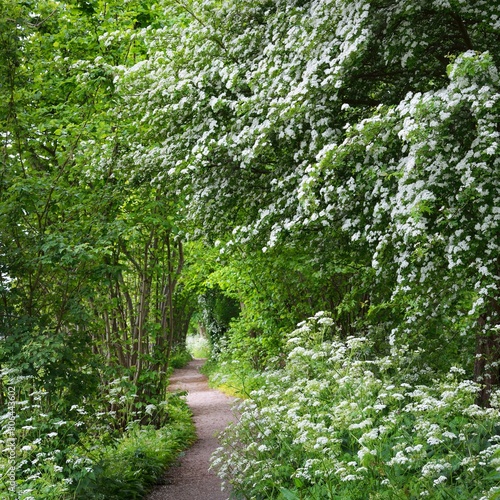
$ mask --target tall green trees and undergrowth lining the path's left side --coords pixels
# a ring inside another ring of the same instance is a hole
[[[120,154],[112,67],[147,56],[153,19],[0,1],[2,498],[141,498],[193,439],[165,393],[196,304],[177,200],[89,154]]]

